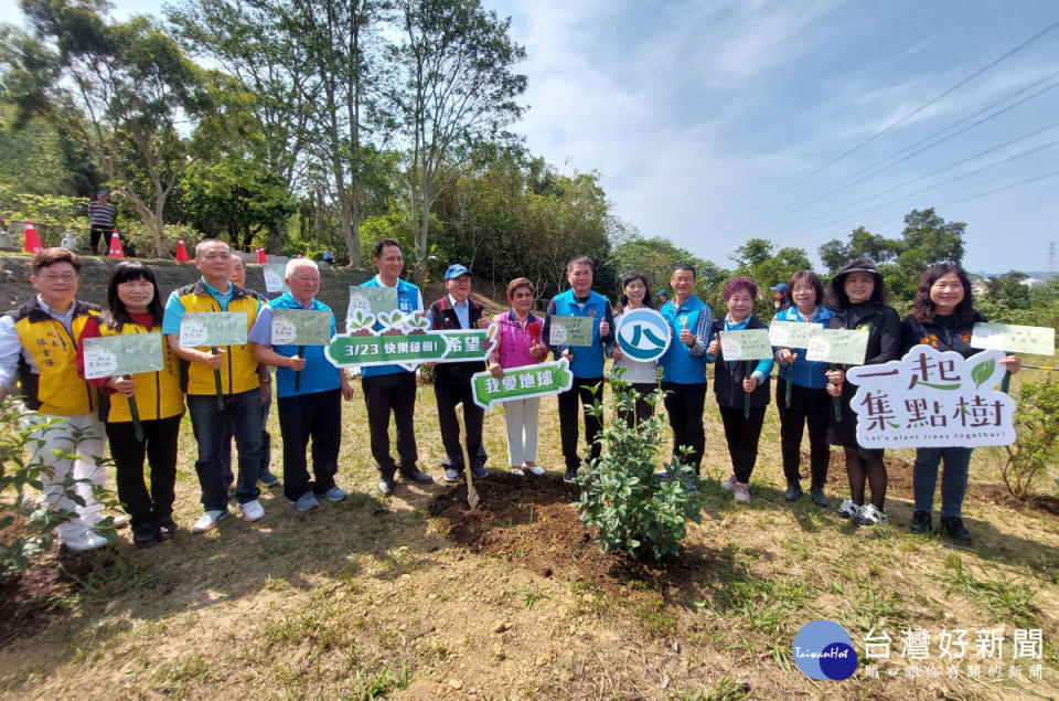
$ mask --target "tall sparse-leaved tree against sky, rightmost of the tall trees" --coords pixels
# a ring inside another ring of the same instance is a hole
[[[389,92],[406,153],[416,269],[425,273],[430,209],[440,183],[467,163],[480,141],[510,138],[522,116],[515,99],[526,77],[513,66],[525,50],[478,0],[398,0],[402,43],[392,49],[397,85]]]

